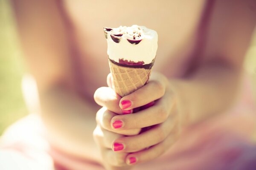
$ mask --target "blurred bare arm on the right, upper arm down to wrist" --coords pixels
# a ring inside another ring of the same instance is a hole
[[[236,99],[243,59],[256,23],[253,0],[216,0],[203,60],[185,79],[171,80],[188,124],[223,112]]]

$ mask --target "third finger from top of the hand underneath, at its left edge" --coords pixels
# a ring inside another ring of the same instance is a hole
[[[93,138],[96,141],[96,143],[99,146],[105,147],[108,149],[111,149],[113,142],[116,139],[119,139],[121,137],[123,137],[123,135],[105,130],[105,129],[101,128],[99,125],[93,131]]]

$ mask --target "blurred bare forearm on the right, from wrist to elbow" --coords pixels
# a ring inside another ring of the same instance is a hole
[[[209,64],[186,79],[171,80],[183,123],[189,125],[229,108],[236,99],[240,72],[225,65]]]

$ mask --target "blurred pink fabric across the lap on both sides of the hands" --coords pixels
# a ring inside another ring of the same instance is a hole
[[[139,164],[134,170],[255,170],[256,145],[250,140],[253,130],[256,130],[255,101],[249,82],[244,83],[243,89],[241,100],[230,111],[187,128],[163,156]],[[44,170],[53,167],[56,170],[104,169],[94,162],[76,159],[51,149],[42,135],[43,129],[37,116],[27,116],[6,131],[0,153],[20,153],[26,157],[28,164],[37,162],[38,167],[47,168]],[[17,135],[18,141],[14,137]],[[38,155],[44,155],[44,161],[38,161]]]

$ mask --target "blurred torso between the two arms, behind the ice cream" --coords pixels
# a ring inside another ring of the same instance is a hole
[[[186,70],[196,43],[205,0],[65,0],[64,12],[72,28],[73,61],[78,87],[89,98],[106,86],[110,72],[103,27],[146,26],[158,33],[157,58],[153,67],[167,77]],[[127,3],[127,6],[122,4]]]

